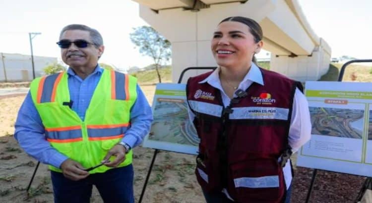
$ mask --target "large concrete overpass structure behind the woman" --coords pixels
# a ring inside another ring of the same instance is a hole
[[[140,17],[172,43],[174,82],[186,67],[216,66],[212,33],[222,19],[237,15],[261,25],[263,49],[271,52],[270,70],[300,81],[317,80],[328,70],[331,49],[311,29],[297,0],[134,1],[140,4]]]

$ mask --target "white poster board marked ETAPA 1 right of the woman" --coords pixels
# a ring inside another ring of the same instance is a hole
[[[297,165],[372,177],[372,83],[307,82],[311,139]]]

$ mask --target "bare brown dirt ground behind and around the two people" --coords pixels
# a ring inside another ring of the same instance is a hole
[[[141,88],[150,104],[154,94],[153,84]],[[24,96],[0,97],[0,203],[52,203],[53,190],[50,171],[41,164],[29,195],[26,188],[37,161],[19,148],[12,137],[17,111]],[[154,150],[134,149],[134,195],[139,200]],[[200,188],[193,175],[194,156],[158,153],[143,198],[143,203],[203,203]],[[296,156],[294,163],[296,162]],[[310,186],[312,169],[297,167],[292,184],[292,203],[305,203]],[[353,203],[364,177],[318,171],[310,203]],[[91,203],[102,203],[96,189]]]

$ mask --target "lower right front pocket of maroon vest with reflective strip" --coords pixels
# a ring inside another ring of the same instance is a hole
[[[283,198],[283,172],[275,160],[239,162],[230,169],[237,202],[279,203]]]

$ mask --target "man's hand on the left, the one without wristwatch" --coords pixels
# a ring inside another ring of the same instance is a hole
[[[84,179],[89,175],[89,173],[84,170],[84,167],[79,162],[76,162],[70,158],[62,162],[61,169],[64,177],[73,181]]]

